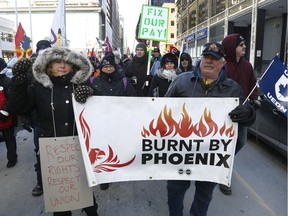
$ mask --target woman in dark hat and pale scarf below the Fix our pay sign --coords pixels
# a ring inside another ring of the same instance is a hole
[[[173,53],[166,53],[161,59],[161,68],[157,70],[152,78],[149,96],[164,97],[170,83],[181,72],[177,68],[177,57]]]

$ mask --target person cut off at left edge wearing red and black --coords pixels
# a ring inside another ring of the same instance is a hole
[[[15,126],[17,125],[17,117],[12,113],[9,102],[10,95],[8,89],[10,86],[10,78],[2,73],[7,67],[4,59],[0,58],[0,131],[7,149],[7,168],[14,167],[17,163],[17,143],[15,138]]]

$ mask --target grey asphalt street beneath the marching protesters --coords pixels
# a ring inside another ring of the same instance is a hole
[[[36,184],[32,133],[17,133],[18,163],[7,169],[5,143],[0,143],[0,216],[52,215],[43,196],[33,197]],[[194,185],[186,193],[184,216],[189,215]],[[166,181],[112,183],[106,191],[94,187],[99,216],[168,216]],[[73,215],[85,215],[81,210]],[[232,195],[216,187],[208,216],[287,216],[287,161],[254,138],[234,162]]]

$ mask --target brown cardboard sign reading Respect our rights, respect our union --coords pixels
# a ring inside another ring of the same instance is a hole
[[[45,211],[67,211],[93,205],[78,137],[40,138]]]

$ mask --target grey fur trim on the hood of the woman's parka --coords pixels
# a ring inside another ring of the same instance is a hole
[[[50,77],[47,75],[46,69],[48,64],[55,60],[64,60],[72,64],[73,68],[78,68],[77,71],[75,71],[75,75],[71,79],[71,82],[74,84],[85,82],[92,74],[93,66],[91,65],[88,58],[81,55],[80,53],[76,53],[64,47],[47,48],[39,52],[39,55],[33,64],[34,78],[39,83],[42,83],[45,87],[53,87],[53,83]]]

